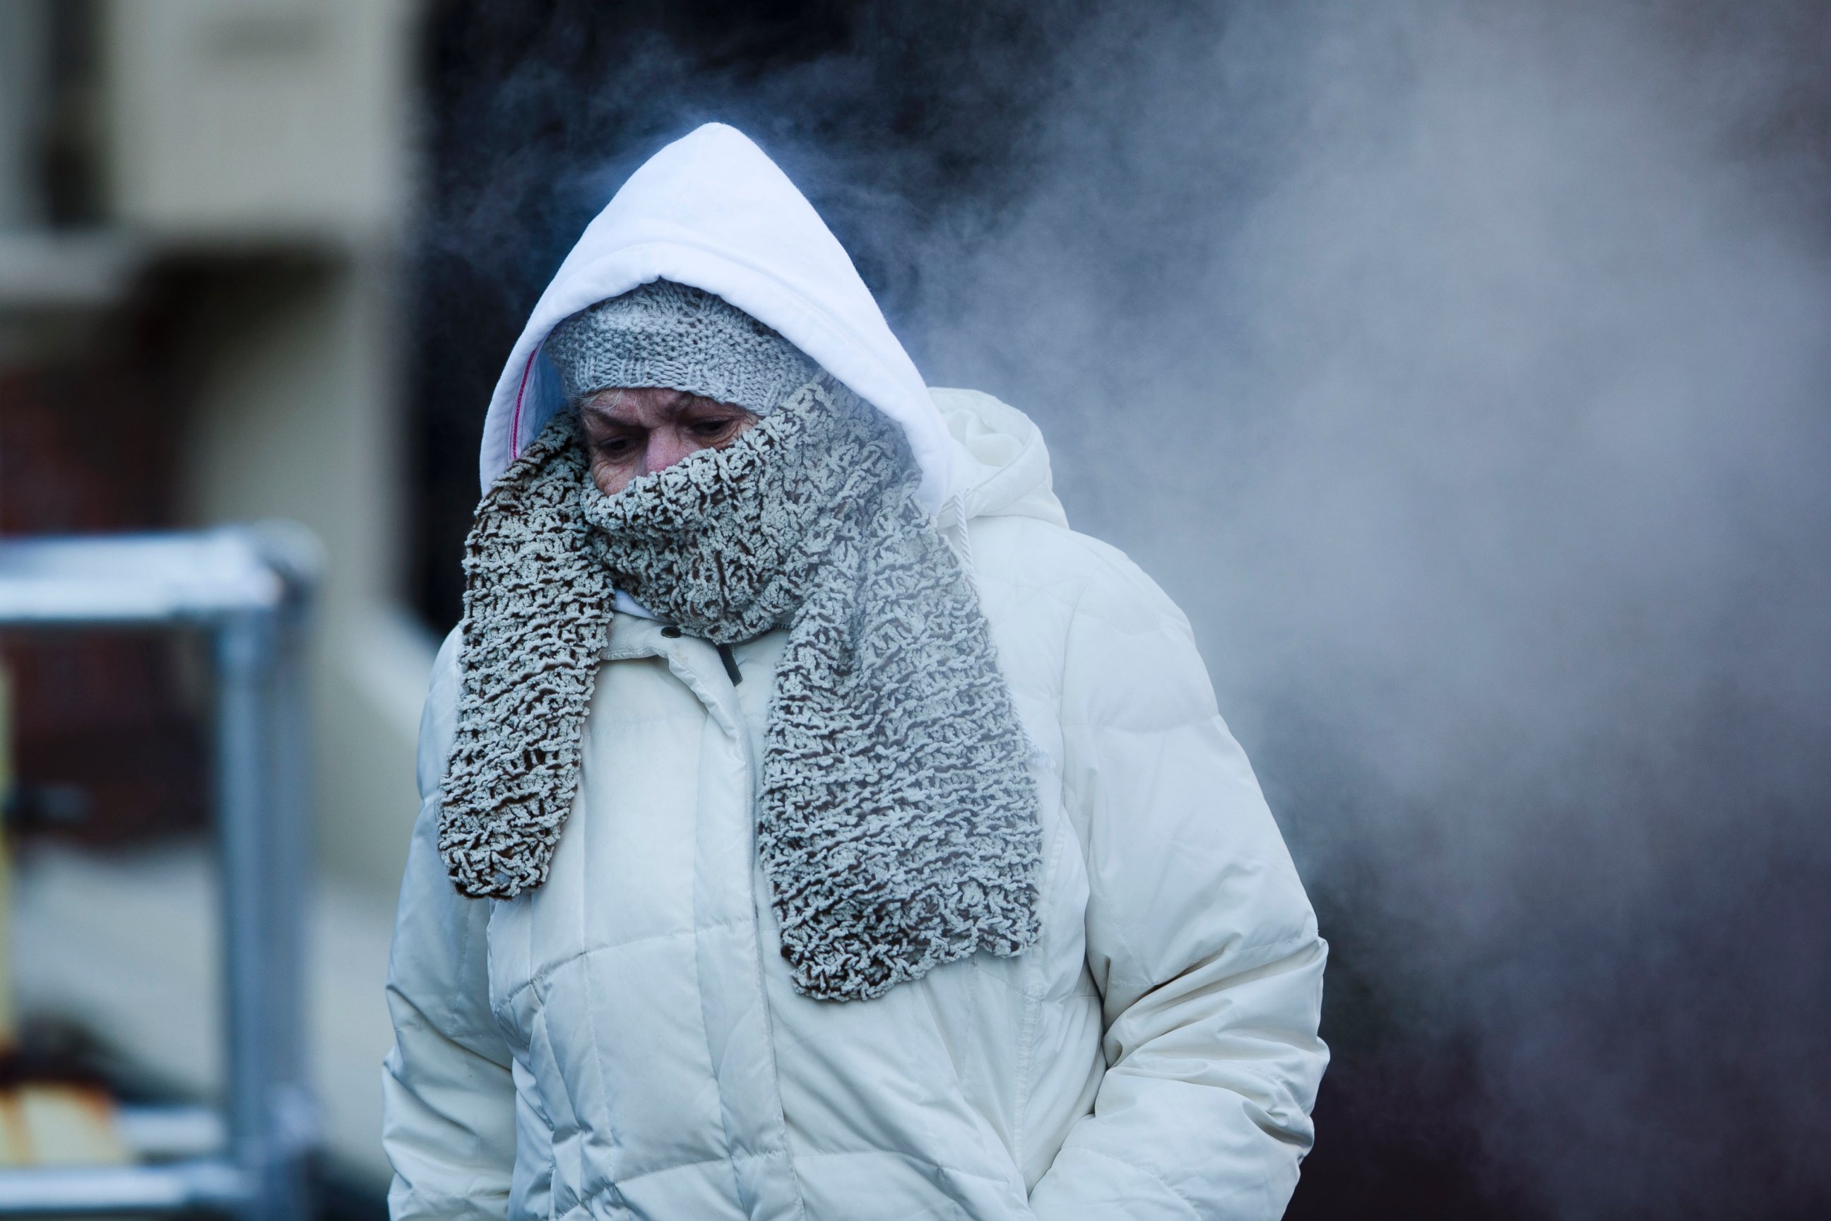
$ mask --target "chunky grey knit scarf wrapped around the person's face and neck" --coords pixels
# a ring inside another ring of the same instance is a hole
[[[623,589],[714,644],[787,626],[756,851],[796,989],[862,999],[1033,945],[1025,740],[917,480],[897,427],[826,377],[615,496],[591,483],[575,419],[547,425],[467,542],[439,818],[458,890],[509,899],[546,881]]]

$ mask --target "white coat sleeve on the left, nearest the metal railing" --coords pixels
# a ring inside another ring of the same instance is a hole
[[[439,778],[458,708],[456,633],[439,650],[419,727],[419,822],[388,961],[394,1051],[383,1144],[395,1221],[504,1217],[515,1170],[515,1080],[489,1012],[489,904],[463,899],[438,853]]]

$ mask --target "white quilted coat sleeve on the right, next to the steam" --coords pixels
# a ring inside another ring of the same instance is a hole
[[[1327,946],[1186,619],[1117,553],[1075,611],[1062,703],[1108,1071],[1031,1205],[1280,1217],[1327,1064]]]

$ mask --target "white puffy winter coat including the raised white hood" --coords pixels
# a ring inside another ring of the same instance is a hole
[[[461,899],[438,853],[445,643],[401,888],[395,1217],[1278,1217],[1327,1053],[1326,946],[1181,611],[1073,533],[1042,436],[928,390],[835,238],[705,126],[586,229],[491,403],[485,487],[558,406],[540,342],[665,276],[769,322],[897,419],[1033,741],[1040,943],[872,1001],[795,992],[753,798],[785,633],[718,652],[619,613],[547,882]]]

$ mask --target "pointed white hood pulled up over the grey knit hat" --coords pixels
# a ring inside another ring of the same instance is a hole
[[[478,470],[485,492],[564,405],[540,351],[553,328],[650,280],[718,293],[897,421],[923,470],[923,503],[941,511],[956,447],[921,373],[813,205],[723,123],[643,163],[540,295],[489,401]]]

